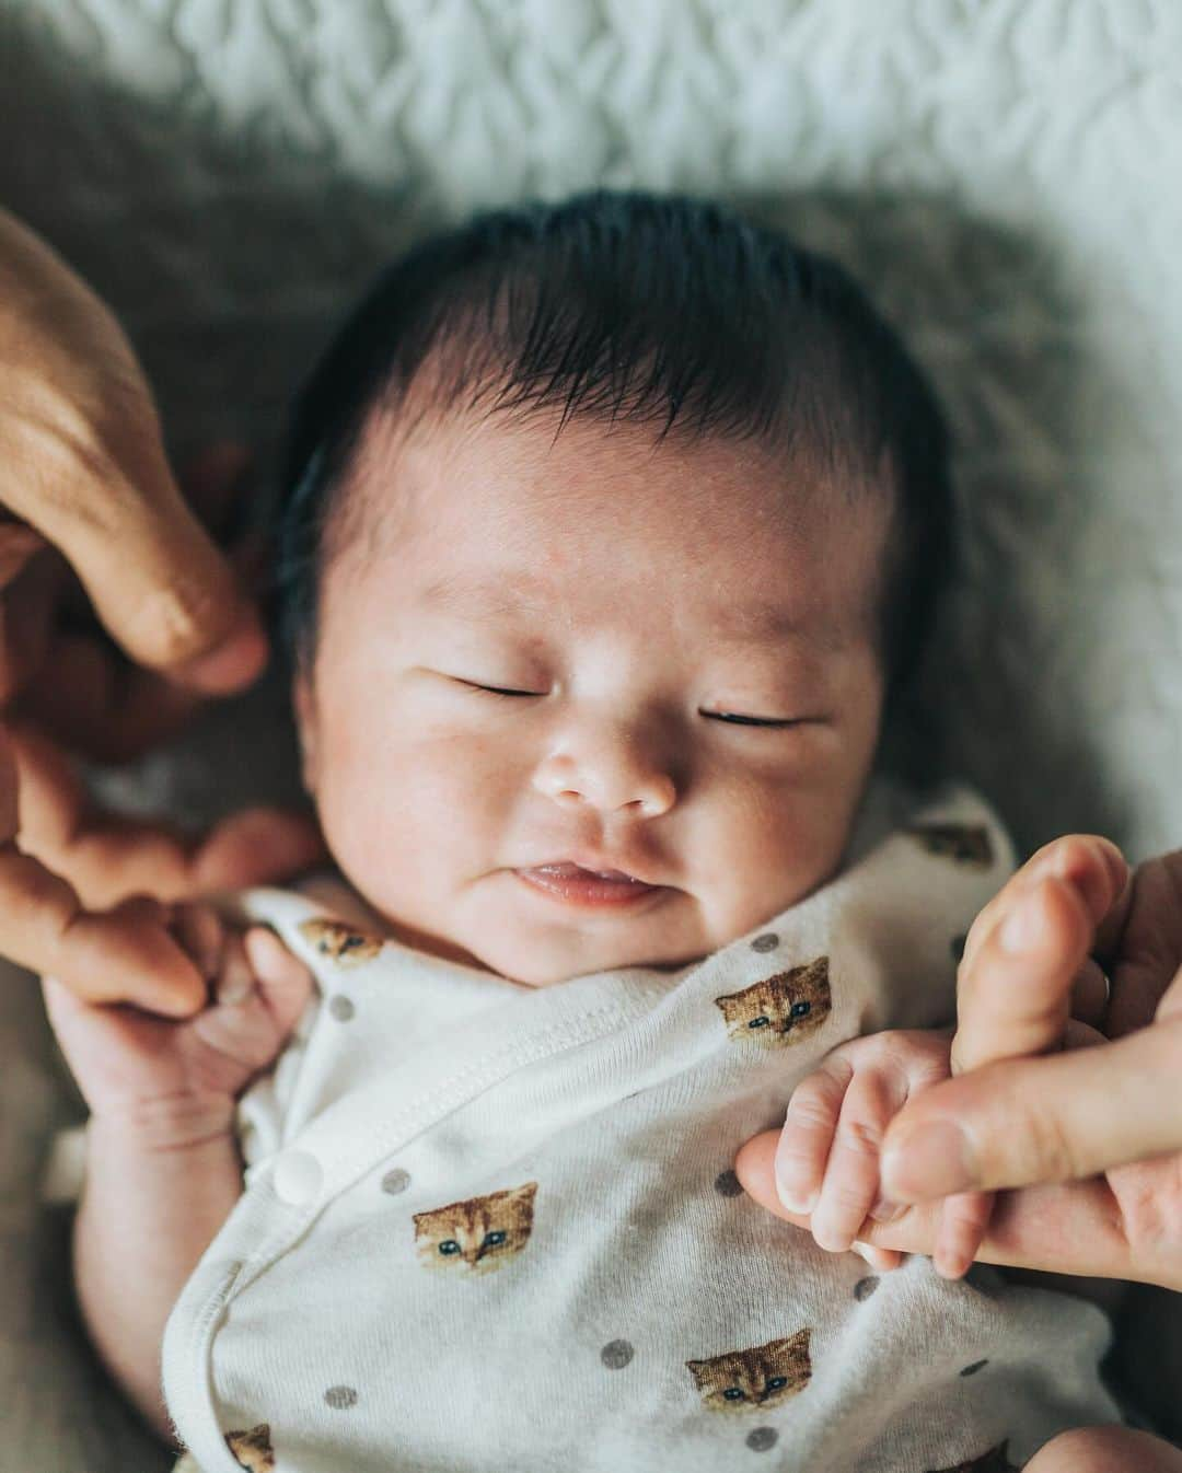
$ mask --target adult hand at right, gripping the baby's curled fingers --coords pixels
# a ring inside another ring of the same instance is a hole
[[[1111,975],[1107,1006],[1094,955]],[[890,1124],[883,1190],[905,1211],[867,1221],[859,1239],[930,1254],[939,1199],[1011,1187],[982,1259],[1182,1289],[1179,963],[1182,853],[1132,879],[1107,840],[1071,835],[1035,854],[965,946],[955,1059],[970,1072]],[[1069,1027],[1073,996],[1102,1031]],[[1064,1047],[1080,1043],[1092,1047]],[[806,1226],[778,1203],[777,1139],[747,1142],[735,1171]]]

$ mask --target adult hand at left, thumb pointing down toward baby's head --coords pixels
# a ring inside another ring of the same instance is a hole
[[[270,810],[187,843],[93,812],[74,778],[59,744],[134,756],[205,695],[248,685],[267,641],[230,558],[172,480],[127,337],[3,212],[0,464],[0,953],[96,1002],[116,1000],[113,987],[192,1010],[202,980],[167,932],[130,929],[83,901],[279,878],[320,844],[308,820]],[[196,468],[211,520],[240,470],[242,454],[224,448]]]

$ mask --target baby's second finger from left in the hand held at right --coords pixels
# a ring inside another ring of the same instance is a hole
[[[892,1215],[890,1203],[880,1202],[878,1150],[903,1097],[902,1080],[880,1069],[853,1075],[812,1212],[812,1236],[821,1248],[849,1252],[868,1217],[884,1221]]]

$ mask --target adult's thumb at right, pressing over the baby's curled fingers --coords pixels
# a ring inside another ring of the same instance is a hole
[[[1091,1177],[1182,1149],[1182,1009],[1098,1047],[1010,1059],[909,1100],[883,1147],[884,1190],[924,1202]]]

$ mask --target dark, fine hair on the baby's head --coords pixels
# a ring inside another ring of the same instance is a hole
[[[476,217],[376,280],[301,390],[277,529],[277,632],[315,648],[326,527],[373,409],[651,424],[765,439],[896,498],[881,597],[892,692],[952,554],[948,435],[896,333],[833,261],[706,200],[595,191]],[[836,493],[836,492],[834,492]]]

